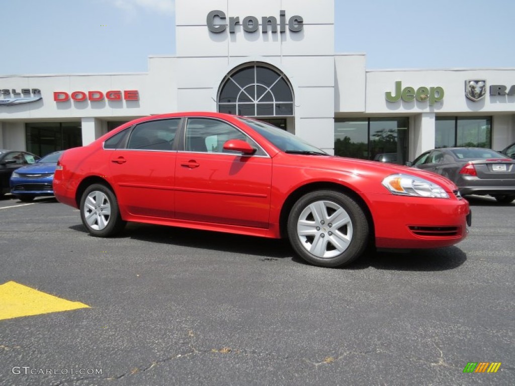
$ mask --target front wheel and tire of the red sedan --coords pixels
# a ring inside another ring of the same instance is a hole
[[[320,267],[350,264],[363,254],[370,238],[363,208],[348,195],[333,190],[317,190],[301,197],[291,209],[287,227],[295,252]]]

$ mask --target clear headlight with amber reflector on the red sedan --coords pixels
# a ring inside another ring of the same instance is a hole
[[[440,185],[409,174],[391,174],[383,180],[383,186],[394,195],[449,198]]]

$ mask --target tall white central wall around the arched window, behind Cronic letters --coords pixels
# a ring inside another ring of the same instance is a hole
[[[263,33],[261,27],[246,32],[237,25],[235,33],[210,32],[207,15],[221,10],[229,17],[275,16],[280,11],[303,17],[303,30]],[[236,66],[265,62],[284,72],[295,96],[295,131],[314,145],[334,148],[334,0],[321,0],[313,7],[308,0],[214,0],[176,1],[178,104],[183,110],[216,111],[220,83]],[[216,79],[213,83],[213,78]],[[291,120],[288,120],[289,122]]]

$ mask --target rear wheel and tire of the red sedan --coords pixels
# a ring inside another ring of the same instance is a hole
[[[122,220],[116,196],[107,186],[88,186],[80,199],[80,218],[88,232],[95,237],[109,237],[120,232]]]

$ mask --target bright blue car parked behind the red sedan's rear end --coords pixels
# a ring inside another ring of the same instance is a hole
[[[11,194],[23,202],[35,197],[54,196],[54,173],[57,161],[64,150],[45,155],[35,164],[23,166],[11,174]]]

